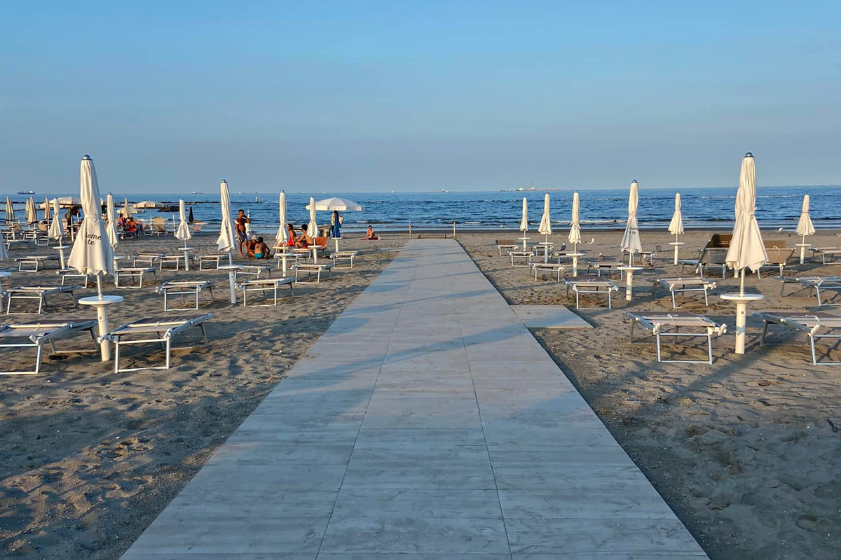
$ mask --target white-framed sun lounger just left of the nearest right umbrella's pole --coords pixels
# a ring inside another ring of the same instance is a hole
[[[657,339],[658,362],[680,362],[682,364],[712,364],[712,336],[722,336],[727,332],[727,325],[718,324],[708,317],[690,313],[689,311],[622,311],[622,318],[631,322],[631,342],[633,342],[633,327],[642,325]],[[680,329],[683,329],[681,331]],[[677,343],[679,337],[706,337],[706,360],[692,359],[663,359],[660,350],[660,337],[674,337]]]

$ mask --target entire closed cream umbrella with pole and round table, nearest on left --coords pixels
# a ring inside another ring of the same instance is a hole
[[[85,219],[79,227],[67,264],[79,274],[93,275],[97,278],[98,296],[82,297],[78,302],[83,306],[93,306],[97,310],[100,356],[105,362],[111,356],[111,345],[108,339],[104,338],[108,334],[108,306],[123,301],[123,298],[103,295],[103,276],[114,274],[114,251],[108,243],[108,233],[102,219],[102,198],[99,196],[97,172],[93,167],[93,160],[88,155],[82,158],[80,183],[79,194]]]

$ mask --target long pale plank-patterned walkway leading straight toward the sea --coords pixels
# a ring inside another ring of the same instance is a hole
[[[123,558],[316,557],[706,555],[458,243],[426,239]]]

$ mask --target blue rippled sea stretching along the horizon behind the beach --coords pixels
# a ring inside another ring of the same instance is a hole
[[[665,229],[674,212],[676,189],[641,188],[637,221],[641,229]],[[733,207],[736,187],[680,189],[684,228],[704,228],[727,231],[733,227]],[[106,190],[100,188],[103,196]],[[520,225],[522,198],[528,201],[530,229],[537,230],[543,212],[543,196],[549,193],[550,217],[553,228],[569,226],[573,191],[436,191],[436,192],[291,192],[286,193],[287,220],[299,226],[309,222],[304,207],[309,196],[318,201],[340,196],[362,205],[361,212],[343,213],[342,231],[361,232],[373,226],[375,231],[398,231],[411,227],[413,231],[452,230],[456,222],[459,230],[516,230]],[[69,193],[35,193],[40,204],[44,196],[65,196]],[[75,193],[74,193],[75,194]],[[756,217],[764,229],[794,231],[800,217],[803,195],[811,198],[811,216],[816,229],[841,228],[841,186],[774,186],[758,188]],[[28,196],[12,195],[21,205]],[[118,206],[125,198],[115,194]],[[130,203],[152,200],[177,205],[183,198],[193,208],[193,217],[205,222],[204,228],[220,228],[219,191],[184,194],[136,194],[128,196]],[[624,228],[627,218],[628,191],[579,190],[581,227],[583,230]],[[251,217],[252,230],[276,233],[278,228],[278,194],[268,192],[230,193],[231,210],[240,208]],[[18,207],[18,205],[15,205]],[[22,207],[21,207],[22,210]],[[17,212],[17,211],[16,211]],[[140,217],[160,216],[160,212],[140,212]],[[320,224],[330,223],[331,212],[318,212]],[[165,217],[177,219],[177,216]]]

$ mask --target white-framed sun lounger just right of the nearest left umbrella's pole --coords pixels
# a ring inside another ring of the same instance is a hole
[[[172,337],[182,334],[192,327],[198,327],[202,332],[204,346],[208,345],[207,332],[204,331],[204,322],[213,317],[213,313],[205,315],[193,315],[192,317],[154,317],[149,319],[138,319],[126,323],[108,332],[103,338],[114,342],[114,372],[139,371],[140,369],[169,369],[170,356],[172,352]],[[134,336],[143,338],[129,338]],[[154,335],[152,337],[152,335]],[[150,338],[145,338],[150,337]],[[167,364],[163,366],[147,366],[144,368],[119,368],[120,347],[128,344],[161,343],[167,350]]]

